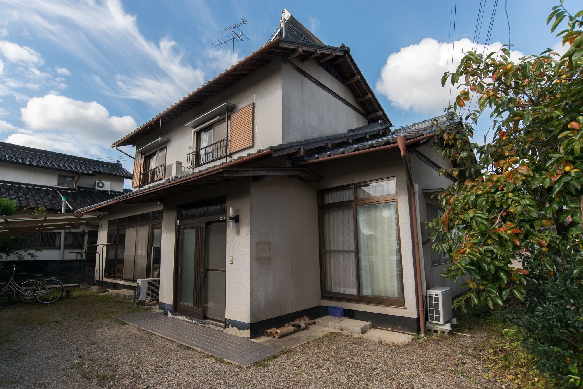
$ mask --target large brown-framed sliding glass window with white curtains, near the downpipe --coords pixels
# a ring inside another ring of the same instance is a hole
[[[402,306],[394,178],[320,192],[322,297]]]

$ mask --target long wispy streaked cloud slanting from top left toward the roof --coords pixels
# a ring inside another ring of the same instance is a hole
[[[125,12],[119,0],[6,0],[4,6],[10,11],[8,22],[36,29],[85,61],[89,72],[114,87],[118,96],[145,101],[156,109],[202,85],[209,71],[206,64],[191,66],[170,37],[159,42],[144,37],[136,17]],[[151,87],[157,89],[147,90]]]

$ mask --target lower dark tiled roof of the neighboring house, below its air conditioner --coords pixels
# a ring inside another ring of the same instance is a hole
[[[67,199],[67,212],[76,211],[96,202],[119,197],[121,192],[95,191],[92,188],[66,189],[45,187],[43,185],[13,183],[0,181],[0,197],[10,198],[18,204],[18,208],[39,208],[44,206],[47,211],[61,212],[62,196]]]

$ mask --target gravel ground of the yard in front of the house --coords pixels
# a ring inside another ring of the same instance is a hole
[[[484,367],[478,329],[405,346],[329,334],[245,369],[112,317],[133,310],[90,292],[3,309],[0,387],[513,387]]]

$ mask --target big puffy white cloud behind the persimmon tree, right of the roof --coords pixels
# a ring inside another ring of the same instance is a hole
[[[467,52],[498,51],[502,43],[494,42],[489,47],[473,43],[467,38],[451,43],[441,43],[433,38],[424,38],[417,44],[402,47],[387,58],[382,67],[376,89],[384,94],[392,106],[401,110],[419,114],[437,115],[452,103],[457,93],[451,93],[449,101],[448,85],[441,86],[441,77],[445,71],[451,71],[452,51],[454,70],[463,58],[462,50]],[[519,51],[511,51],[512,59],[522,57]],[[444,104],[445,96],[445,104]]]

